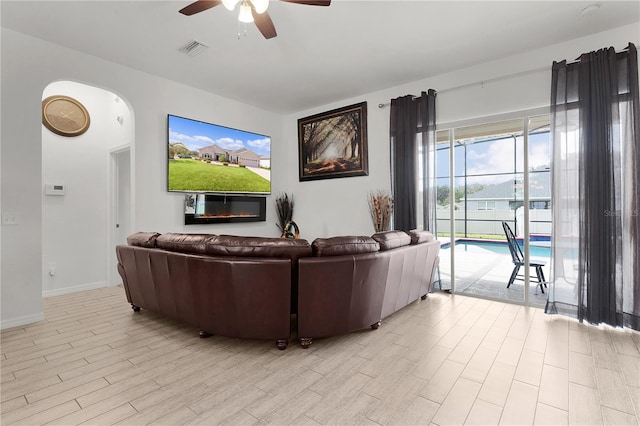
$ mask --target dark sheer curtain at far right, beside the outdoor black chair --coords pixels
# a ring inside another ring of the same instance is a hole
[[[640,330],[640,101],[629,44],[554,62],[546,311]]]

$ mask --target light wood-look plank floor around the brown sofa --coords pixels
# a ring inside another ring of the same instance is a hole
[[[640,423],[640,333],[536,308],[436,293],[285,351],[133,313],[121,287],[44,314],[2,332],[2,425]]]

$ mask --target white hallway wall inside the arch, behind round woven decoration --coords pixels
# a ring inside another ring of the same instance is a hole
[[[58,81],[45,88],[42,98],[52,95],[80,101],[90,111],[91,124],[72,138],[42,126],[42,180],[65,186],[63,196],[42,194],[45,297],[106,286],[109,150],[133,140],[131,111],[114,93]],[[50,274],[52,268],[55,275]]]

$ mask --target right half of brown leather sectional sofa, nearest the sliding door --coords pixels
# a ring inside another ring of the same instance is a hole
[[[426,231],[388,231],[370,237],[316,239],[299,268],[298,337],[336,336],[380,321],[426,298],[440,242]]]

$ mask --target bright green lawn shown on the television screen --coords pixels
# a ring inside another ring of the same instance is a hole
[[[169,191],[270,192],[270,182],[245,167],[169,160]]]

